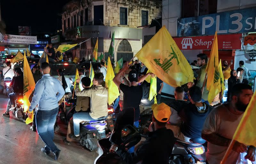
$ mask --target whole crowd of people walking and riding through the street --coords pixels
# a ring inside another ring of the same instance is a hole
[[[51,49],[50,45],[47,55],[54,60],[54,52]],[[168,163],[175,138],[187,143],[193,143],[196,138],[203,138],[208,142],[207,161],[209,164],[219,164],[252,98],[253,91],[248,85],[250,71],[244,66],[244,62],[240,61],[240,67],[231,70],[230,66],[233,63],[228,64],[227,61],[223,61],[223,75],[228,84],[226,86],[228,87],[228,102],[221,104],[220,94],[216,95],[213,102],[208,102],[209,91],[206,84],[204,85],[207,62],[208,57],[205,54],[197,55],[197,61],[192,63],[200,67],[199,72],[194,71],[196,80],[176,87],[175,100],[170,100],[166,105],[161,103],[163,81],[156,77],[157,104],[154,104],[154,100],[148,100],[150,83],[145,79],[148,76],[155,77],[155,75],[148,72],[148,68],[138,60],[132,64],[124,61],[123,68],[113,78],[120,92],[120,96],[113,104],[114,109],[115,105],[119,105],[120,111],[133,107],[135,110],[134,126],[139,127],[140,114],[151,108],[154,128],[149,128],[149,138],[136,151],[132,147],[126,152],[118,149],[118,145],[112,145],[109,151],[116,152],[127,163],[136,163],[141,160],[143,163]],[[6,64],[8,67],[5,68],[4,73],[7,74],[6,76],[12,76],[13,93],[9,94],[8,105],[3,116],[10,116],[13,101],[18,94],[23,93],[23,82],[21,83],[23,72],[20,68],[12,70],[10,63]],[[76,87],[74,88],[77,96],[76,112],[69,120],[67,137],[63,140],[68,145],[80,140],[80,123],[101,120],[108,116],[108,105],[111,104],[108,104],[108,89],[104,85],[107,68],[104,62],[101,62],[100,66],[99,72],[95,73],[92,79],[92,87],[90,87],[91,79],[84,75],[84,70],[78,70],[79,78],[75,81]],[[46,62],[41,63],[40,68],[34,66],[32,69],[36,87],[31,95],[28,116],[31,117],[30,112],[36,109],[35,119],[30,129],[37,130],[38,135],[44,141],[45,147],[41,151],[47,155],[54,153],[55,160],[58,160],[60,149],[53,142],[53,127],[59,105],[65,93],[71,93],[70,88],[73,83],[65,77],[61,69],[58,70],[59,78],[51,77],[49,72],[50,66]],[[159,144],[163,150],[161,153],[156,148]],[[228,160],[238,161],[240,153],[244,152],[247,152],[245,158],[255,160],[255,147],[239,142],[234,145]],[[152,158],[149,159],[148,155]]]

